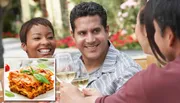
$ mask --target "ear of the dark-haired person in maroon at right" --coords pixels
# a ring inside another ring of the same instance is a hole
[[[166,27],[164,33],[165,33],[164,36],[167,36],[166,38],[168,40],[168,45],[172,47],[175,42],[175,35],[172,29],[170,27]]]

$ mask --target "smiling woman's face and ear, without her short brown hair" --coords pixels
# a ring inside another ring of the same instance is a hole
[[[52,57],[56,42],[50,27],[41,24],[33,25],[27,32],[26,39],[26,43],[22,43],[21,46],[29,58]]]

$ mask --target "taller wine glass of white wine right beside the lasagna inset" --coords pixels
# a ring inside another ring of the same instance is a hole
[[[71,83],[75,78],[76,72],[73,69],[75,64],[69,53],[59,53],[56,58],[56,79],[59,82]]]

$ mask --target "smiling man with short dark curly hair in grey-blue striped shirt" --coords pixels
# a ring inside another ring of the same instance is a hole
[[[76,5],[71,11],[70,23],[76,47],[81,52],[73,60],[89,72],[87,87],[110,95],[141,70],[139,65],[108,40],[107,14],[101,5],[95,2]]]

